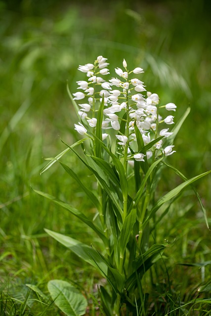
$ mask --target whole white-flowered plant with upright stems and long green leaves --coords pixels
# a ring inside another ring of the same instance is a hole
[[[127,315],[129,312],[142,315],[146,308],[143,276],[161,258],[168,245],[150,243],[150,233],[155,229],[151,219],[155,219],[157,211],[166,203],[156,220],[159,223],[174,197],[209,172],[188,180],[166,163],[166,158],[175,153],[173,140],[190,109],[174,124],[174,117],[162,111],[175,112],[176,105],[160,105],[159,96],[146,91],[140,79],[144,73],[142,68],[129,71],[124,59],[124,69],[115,69],[117,78],[105,80],[110,74],[108,65],[106,58],[98,56],[93,64],[79,66],[86,80],[77,81],[80,91],[73,93],[74,97],[69,88],[68,93],[79,120],[75,130],[84,138],[72,146],[66,144],[67,148],[57,157],[48,158],[50,161],[42,170],[46,171],[59,161],[92,201],[96,216],[89,219],[68,203],[37,192],[68,209],[101,240],[102,247],[96,249],[94,245],[46,230],[107,279],[107,286],[99,287],[103,315],[125,315],[125,310]],[[174,126],[171,130],[170,125]],[[75,150],[79,145],[83,147],[83,155]],[[60,160],[69,151],[73,151],[95,176],[96,192],[87,188],[74,170]],[[160,170],[165,165],[183,182],[157,198]],[[196,195],[208,223],[204,206]]]

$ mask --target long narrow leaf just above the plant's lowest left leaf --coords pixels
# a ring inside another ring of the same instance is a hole
[[[34,189],[33,189],[34,190]],[[50,199],[52,202],[54,202],[57,205],[60,205],[61,207],[67,209],[68,211],[70,211],[72,214],[74,214],[76,217],[78,217],[81,221],[83,221],[86,225],[88,225],[89,227],[91,227],[93,229],[93,231],[95,233],[97,233],[97,235],[102,239],[102,241],[104,242],[104,244],[106,245],[108,243],[107,238],[105,237],[105,235],[103,234],[103,232],[96,227],[92,221],[90,221],[83,213],[81,213],[79,210],[77,210],[76,208],[72,207],[71,205],[69,205],[68,203],[65,203],[63,201],[61,201],[60,199],[57,199],[56,197],[50,196],[47,193],[44,193],[42,191],[38,191],[38,190],[34,190],[36,193],[40,194],[42,197],[47,197],[48,199]]]

